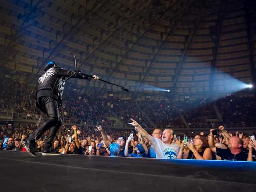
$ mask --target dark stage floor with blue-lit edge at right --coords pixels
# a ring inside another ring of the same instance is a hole
[[[1,191],[256,191],[256,162],[157,160],[0,151]]]

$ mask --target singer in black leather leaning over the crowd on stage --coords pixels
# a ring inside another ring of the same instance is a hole
[[[99,79],[96,75],[86,75],[80,71],[68,71],[57,67],[55,62],[48,62],[44,68],[45,74],[38,79],[38,89],[35,94],[37,107],[47,115],[48,119],[30,134],[23,146],[31,156],[35,156],[36,140],[50,130],[42,155],[60,155],[52,149],[52,142],[59,130],[62,121],[59,116],[59,107],[62,105],[62,94],[65,85],[65,78]]]

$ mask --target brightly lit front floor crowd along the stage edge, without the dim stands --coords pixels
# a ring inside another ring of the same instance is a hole
[[[172,129],[155,129],[148,133],[135,120],[135,129],[113,130],[83,126],[61,126],[52,149],[63,154],[96,156],[126,156],[148,158],[183,158],[199,160],[256,161],[255,136],[230,133],[223,126],[209,133],[175,135]],[[0,127],[0,149],[21,150],[21,142],[33,133],[36,125],[27,124],[13,128],[11,124]],[[42,152],[49,132],[37,141],[36,152]],[[71,137],[71,140],[69,140]]]

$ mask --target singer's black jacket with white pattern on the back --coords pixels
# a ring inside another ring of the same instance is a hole
[[[87,79],[89,81],[93,78],[92,75],[81,75],[79,73],[76,73],[76,71],[68,71],[60,67],[52,67],[48,69],[45,74],[38,79],[38,88],[37,92],[35,93],[35,99],[37,100],[38,91],[50,90],[52,91],[51,97],[56,99],[58,101],[58,105],[60,106],[62,104],[62,94],[65,86],[65,77],[69,77],[71,75],[73,75],[72,78]]]

